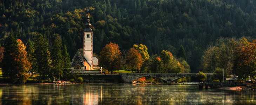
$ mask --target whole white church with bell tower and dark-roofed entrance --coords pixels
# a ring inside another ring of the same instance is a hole
[[[83,52],[76,51],[72,62],[70,62],[72,69],[70,73],[100,73],[99,70],[93,70],[93,66],[96,68],[98,65],[98,59],[93,57],[93,30],[90,28],[91,26],[88,13],[83,30]]]

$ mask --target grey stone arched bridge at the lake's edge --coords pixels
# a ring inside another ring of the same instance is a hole
[[[167,81],[168,84],[174,84],[175,80],[183,77],[196,77],[198,73],[119,73],[124,83],[133,83],[142,77],[157,77]],[[211,80],[213,73],[206,73],[207,81]]]

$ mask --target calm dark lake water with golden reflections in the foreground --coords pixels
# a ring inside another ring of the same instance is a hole
[[[197,85],[0,85],[1,105],[256,105],[255,91]]]

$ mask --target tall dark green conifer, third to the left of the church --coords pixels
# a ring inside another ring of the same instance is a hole
[[[45,36],[38,34],[35,40],[34,64],[32,66],[35,73],[39,74],[40,80],[49,79],[52,75],[50,72],[50,52],[48,50],[48,41]]]

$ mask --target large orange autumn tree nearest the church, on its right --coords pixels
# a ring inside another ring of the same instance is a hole
[[[107,44],[100,52],[99,62],[104,69],[111,71],[121,68],[121,52],[119,46],[115,43]]]

